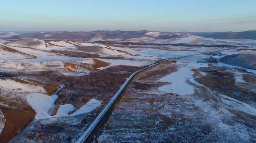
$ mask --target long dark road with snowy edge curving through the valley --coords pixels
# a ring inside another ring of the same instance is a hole
[[[229,49],[225,49],[225,50],[229,50]],[[207,53],[200,53],[200,54],[211,54],[211,53],[215,53],[215,52],[219,52],[219,51],[225,51],[225,50],[218,50],[218,51],[207,52]],[[200,54],[193,54],[193,55],[200,55]],[[94,122],[88,127],[88,129],[85,131],[85,133],[83,133],[82,136],[79,137],[76,140],[76,143],[88,143],[91,140],[92,136],[98,130],[98,128],[103,123],[103,121],[105,120],[107,115],[111,114],[112,107],[118,101],[119,97],[122,95],[122,93],[124,92],[125,88],[128,86],[129,82],[133,79],[133,77],[136,74],[138,74],[139,72],[141,72],[143,70],[149,69],[150,67],[156,66],[156,65],[158,65],[160,63],[163,63],[165,61],[172,60],[172,59],[181,59],[181,58],[190,57],[190,56],[193,56],[193,55],[186,55],[186,56],[182,56],[182,57],[167,58],[165,60],[159,61],[158,63],[150,64],[149,66],[144,67],[143,69],[137,70],[134,73],[132,73],[131,76],[129,76],[129,78],[125,81],[125,83],[120,87],[118,92],[115,93],[115,95],[110,100],[110,102],[107,104],[107,106],[95,118]]]

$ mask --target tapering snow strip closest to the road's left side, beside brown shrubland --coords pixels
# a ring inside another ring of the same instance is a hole
[[[101,105],[101,101],[98,101],[97,99],[92,98],[89,102],[87,102],[85,105],[83,105],[81,108],[79,108],[76,112],[71,114],[71,116],[83,114],[83,113],[89,113],[99,107]]]

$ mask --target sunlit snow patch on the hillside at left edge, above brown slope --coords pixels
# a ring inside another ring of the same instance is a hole
[[[12,79],[0,79],[0,88],[7,90],[19,90],[21,92],[42,92],[46,90],[40,85],[33,85],[30,83],[20,83]]]

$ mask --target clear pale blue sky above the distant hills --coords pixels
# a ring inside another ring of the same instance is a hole
[[[0,31],[256,30],[256,0],[1,0]]]

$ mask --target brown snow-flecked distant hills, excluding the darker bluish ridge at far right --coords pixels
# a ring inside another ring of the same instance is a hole
[[[10,38],[37,38],[37,39],[84,39],[84,40],[103,40],[103,39],[130,39],[130,38],[156,38],[170,39],[182,36],[174,32],[155,32],[155,31],[92,31],[92,32],[34,32],[29,34],[12,36]]]

